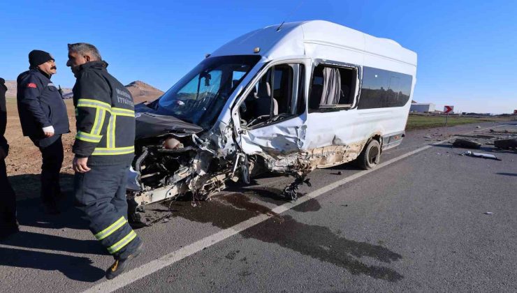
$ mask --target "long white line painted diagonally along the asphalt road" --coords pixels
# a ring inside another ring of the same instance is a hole
[[[503,124],[500,126],[494,126],[494,127],[490,127],[490,128],[497,128],[497,127],[502,127],[505,125],[506,124]],[[490,128],[478,129],[478,131],[486,130],[486,129],[490,129]],[[469,131],[468,133],[472,133],[472,132],[473,131]],[[465,134],[467,134],[467,133],[465,133]],[[386,167],[387,165],[391,165],[395,162],[398,162],[399,160],[402,160],[409,156],[413,156],[416,153],[420,153],[421,151],[430,149],[431,147],[434,147],[435,145],[444,144],[445,142],[449,142],[450,140],[453,140],[453,138],[454,138],[454,136],[449,137],[449,139],[447,139],[447,140],[442,140],[441,142],[435,142],[433,144],[428,144],[425,147],[421,147],[414,151],[410,151],[409,153],[405,153],[402,156],[392,158],[391,160],[387,160],[386,162],[377,165],[377,167],[373,170],[365,170],[365,171],[357,172],[356,174],[348,176],[347,178],[344,178],[340,181],[336,181],[335,183],[331,183],[328,186],[316,189],[316,190],[312,191],[311,193],[307,193],[307,195],[300,197],[298,200],[296,200],[296,202],[287,202],[286,204],[277,206],[277,207],[275,207],[275,209],[272,209],[272,212],[278,214],[278,213],[283,213],[284,211],[288,211],[289,209],[293,209],[293,207],[303,204],[304,202],[307,202],[308,200],[312,200],[313,198],[319,197],[320,195],[328,193],[328,191],[338,188],[345,183],[349,183],[350,181],[354,181],[355,179],[365,176],[366,174],[370,174],[371,172],[374,172],[383,167]],[[140,280],[141,278],[145,278],[146,276],[149,276],[152,273],[156,273],[156,271],[159,271],[159,270],[165,268],[166,266],[170,266],[171,264],[174,264],[175,262],[183,260],[185,257],[194,255],[194,253],[198,253],[199,251],[203,250],[204,248],[207,248],[209,246],[214,245],[215,243],[219,243],[225,239],[228,239],[231,236],[239,234],[240,232],[247,230],[250,227],[253,227],[259,223],[262,223],[265,220],[268,220],[269,218],[271,218],[271,216],[266,215],[266,214],[261,214],[259,216],[255,216],[254,218],[249,218],[248,220],[238,223],[237,225],[234,225],[233,227],[229,227],[225,230],[221,230],[221,231],[219,231],[215,234],[212,234],[210,236],[207,236],[199,241],[191,243],[188,246],[184,246],[183,248],[180,248],[179,250],[175,250],[172,253],[163,255],[159,259],[153,260],[152,262],[147,262],[147,264],[143,264],[142,266],[138,266],[138,268],[132,269],[131,271],[123,273],[122,275],[118,276],[117,278],[115,278],[113,280],[104,280],[103,282],[95,285],[94,287],[89,288],[88,290],[85,290],[84,292],[85,293],[86,292],[114,292],[115,290],[118,290],[131,283],[134,283],[137,280]]]

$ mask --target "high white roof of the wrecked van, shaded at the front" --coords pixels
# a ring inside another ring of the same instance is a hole
[[[341,47],[374,54],[416,66],[416,53],[387,38],[377,38],[361,31],[324,20],[275,24],[242,35],[212,53],[212,57],[260,54],[265,59],[289,56],[312,56],[308,44]],[[260,52],[254,53],[256,47]]]

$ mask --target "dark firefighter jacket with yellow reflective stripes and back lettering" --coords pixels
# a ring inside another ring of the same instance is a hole
[[[135,151],[133,97],[106,67],[104,61],[88,62],[75,75],[73,105],[78,134],[72,151],[89,157],[89,165],[129,163]]]

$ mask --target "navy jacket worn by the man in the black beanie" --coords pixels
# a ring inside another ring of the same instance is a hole
[[[42,139],[41,128],[52,126],[54,134],[69,133],[68,114],[61,93],[47,75],[31,69],[18,75],[17,102],[24,136]]]

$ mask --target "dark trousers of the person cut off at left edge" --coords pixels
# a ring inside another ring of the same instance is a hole
[[[7,179],[6,161],[3,159],[0,159],[0,217],[0,232],[16,225],[16,196]]]

